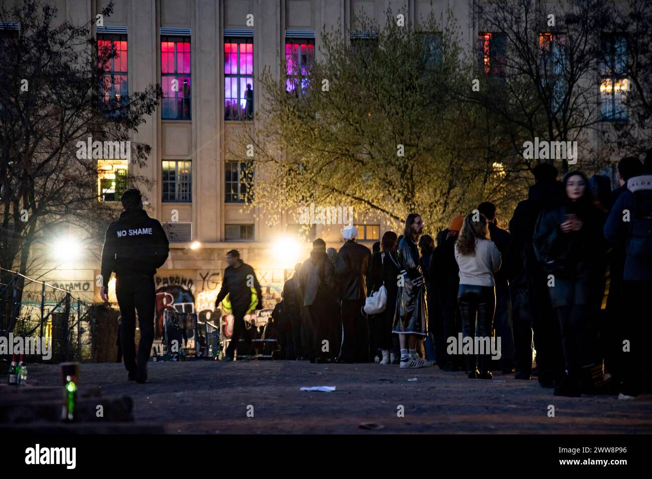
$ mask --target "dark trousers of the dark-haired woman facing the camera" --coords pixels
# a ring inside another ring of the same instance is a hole
[[[589,306],[576,304],[555,308],[559,320],[561,348],[569,376],[580,380],[582,366],[587,363],[587,319]]]

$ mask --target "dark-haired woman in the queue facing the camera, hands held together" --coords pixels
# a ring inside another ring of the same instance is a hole
[[[599,357],[590,322],[591,300],[595,284],[604,274],[600,268],[606,245],[603,214],[595,206],[587,177],[581,171],[569,171],[561,181],[563,203],[539,216],[534,246],[548,274],[548,294],[559,322],[566,367],[555,396],[578,397],[582,395],[583,370],[586,377],[591,376]]]

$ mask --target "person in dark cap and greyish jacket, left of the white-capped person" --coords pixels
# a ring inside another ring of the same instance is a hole
[[[310,362],[331,362],[335,359],[334,282],[334,267],[326,255],[326,243],[318,238],[312,242],[310,257],[299,270],[304,306],[304,358]]]

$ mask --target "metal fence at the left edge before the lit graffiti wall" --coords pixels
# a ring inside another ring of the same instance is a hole
[[[70,291],[0,268],[0,336],[20,337],[23,345],[40,341],[52,352],[48,362],[91,359],[91,311]],[[25,359],[42,362],[43,356],[40,351]]]

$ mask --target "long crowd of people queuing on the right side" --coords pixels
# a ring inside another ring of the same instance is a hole
[[[650,386],[652,158],[623,158],[617,169],[612,192],[608,177],[569,171],[559,181],[539,164],[508,227],[483,202],[436,239],[409,214],[402,234],[385,232],[372,252],[352,225],[338,252],[314,240],[274,311],[280,356],[437,364],[471,379],[499,370],[535,376],[556,396],[635,398]],[[379,293],[384,308],[366,313]],[[460,355],[448,349],[458,337],[494,337],[501,354]]]

